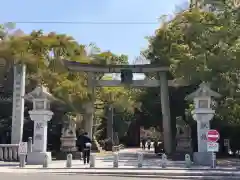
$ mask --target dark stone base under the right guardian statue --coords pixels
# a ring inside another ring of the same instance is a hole
[[[192,139],[189,137],[177,138],[176,152],[192,153]]]

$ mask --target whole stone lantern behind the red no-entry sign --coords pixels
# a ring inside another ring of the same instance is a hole
[[[210,129],[210,120],[212,120],[215,114],[211,107],[213,103],[212,98],[219,97],[221,95],[211,90],[205,82],[200,84],[195,92],[186,97],[187,100],[193,100],[194,102],[194,110],[191,113],[193,119],[197,122],[198,152],[194,153],[194,159],[198,164],[211,163],[211,153],[207,152],[206,135]],[[207,162],[207,160],[210,160],[210,162]]]

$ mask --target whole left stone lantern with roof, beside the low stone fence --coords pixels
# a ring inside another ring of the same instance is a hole
[[[50,110],[50,102],[54,97],[44,86],[37,86],[32,92],[25,96],[33,102],[33,109],[29,111],[34,121],[33,151],[28,153],[28,164],[43,164],[46,156],[50,162],[51,152],[47,152],[47,128],[48,121],[52,119],[53,112]]]

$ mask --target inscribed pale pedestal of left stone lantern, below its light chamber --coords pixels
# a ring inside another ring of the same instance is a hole
[[[47,156],[52,160],[51,152],[47,152],[47,126],[53,112],[48,110],[29,111],[30,118],[34,121],[33,151],[28,153],[27,164],[42,165]]]

